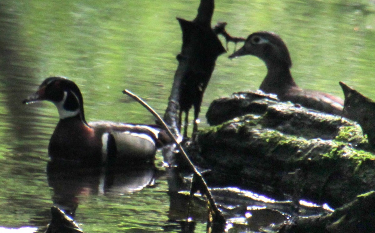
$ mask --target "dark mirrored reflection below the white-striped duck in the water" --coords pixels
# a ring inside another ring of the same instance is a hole
[[[48,185],[53,189],[54,206],[74,218],[80,197],[88,195],[121,195],[153,185],[154,164],[133,167],[64,167],[49,162]]]

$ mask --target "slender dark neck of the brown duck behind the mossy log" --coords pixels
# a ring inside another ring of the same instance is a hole
[[[267,75],[259,89],[267,93],[279,94],[285,89],[297,87],[288,65],[268,64]]]

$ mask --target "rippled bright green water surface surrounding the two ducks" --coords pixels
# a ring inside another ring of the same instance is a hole
[[[52,204],[46,148],[57,111],[50,103],[23,106],[22,99],[46,77],[63,75],[80,86],[87,120],[153,122],[121,90],[131,90],[163,113],[181,46],[175,17],[192,20],[198,4],[0,2],[1,226],[44,225]],[[290,49],[296,83],[303,88],[343,97],[338,81],[344,81],[375,99],[374,12],[373,1],[217,0],[213,24],[226,21],[234,36],[278,33]],[[201,127],[213,99],[257,89],[265,74],[263,62],[255,57],[220,56],[204,95]],[[168,225],[167,190],[162,177],[154,188],[133,194],[79,197],[77,221],[87,232],[162,231]],[[204,224],[198,224],[196,232],[203,231]]]

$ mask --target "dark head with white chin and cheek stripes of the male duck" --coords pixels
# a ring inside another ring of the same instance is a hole
[[[65,77],[49,77],[40,84],[38,90],[23,101],[31,104],[38,101],[50,101],[58,110],[60,119],[80,115],[84,120],[83,98],[78,86]]]

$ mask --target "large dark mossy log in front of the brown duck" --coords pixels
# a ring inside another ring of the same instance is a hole
[[[373,149],[360,126],[344,117],[240,92],[214,101],[207,120],[216,126],[199,131],[189,154],[211,169],[210,186],[297,192],[332,207],[375,188]]]

